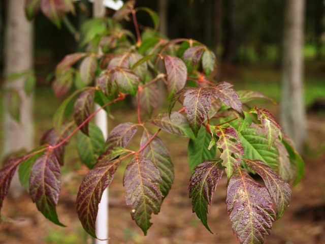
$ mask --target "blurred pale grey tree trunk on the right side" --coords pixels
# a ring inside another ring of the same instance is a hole
[[[287,0],[285,6],[281,122],[301,153],[307,136],[303,101],[304,0]]]

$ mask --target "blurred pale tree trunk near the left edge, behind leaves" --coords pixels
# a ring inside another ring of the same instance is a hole
[[[10,0],[7,2],[7,29],[5,39],[5,76],[12,73],[32,69],[33,38],[32,24],[27,21],[24,12],[24,0]],[[19,149],[33,148],[34,136],[32,129],[32,96],[26,96],[24,81],[26,77],[15,81],[8,81],[7,88],[17,90],[21,98],[20,120],[17,123],[8,111],[9,96],[4,101],[4,155]],[[17,175],[11,183],[11,193],[18,197],[23,188],[19,184]]]

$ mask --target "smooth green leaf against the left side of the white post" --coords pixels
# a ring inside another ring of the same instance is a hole
[[[77,132],[77,150],[81,161],[92,169],[97,158],[104,153],[105,139],[101,129],[89,123],[89,136]]]

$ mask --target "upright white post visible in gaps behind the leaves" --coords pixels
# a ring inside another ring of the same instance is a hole
[[[93,17],[103,17],[105,12],[105,6],[103,0],[94,0],[93,2]],[[100,106],[96,105],[95,109],[99,109]],[[101,110],[95,115],[95,124],[98,126],[106,139],[108,136],[108,125],[107,125],[107,114],[105,110]],[[95,244],[108,244],[108,222],[109,222],[109,211],[108,211],[108,189],[103,193],[101,202],[98,208],[98,214],[96,219],[96,236],[99,239],[95,240]]]

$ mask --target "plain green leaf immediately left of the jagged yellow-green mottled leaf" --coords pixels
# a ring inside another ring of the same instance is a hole
[[[191,173],[193,173],[194,168],[201,162],[215,158],[216,147],[212,147],[210,150],[208,149],[210,141],[211,135],[204,127],[201,127],[196,139],[189,139],[187,158]]]

